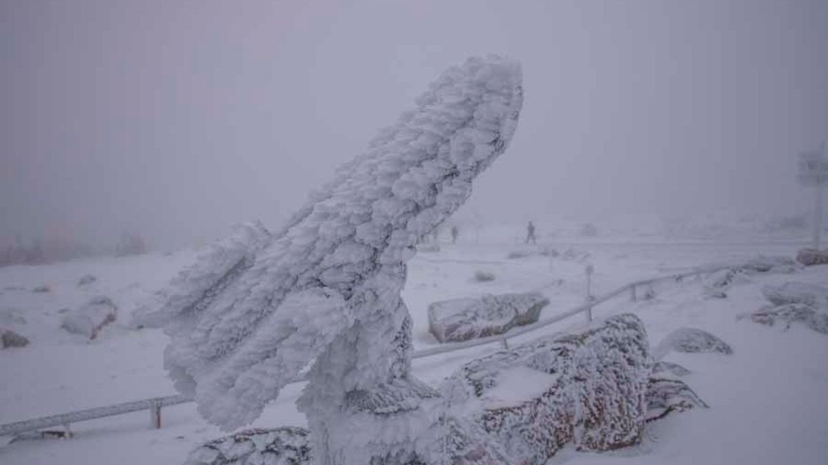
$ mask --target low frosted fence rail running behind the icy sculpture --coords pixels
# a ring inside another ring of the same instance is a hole
[[[515,338],[522,334],[531,333],[536,331],[537,329],[545,328],[550,324],[555,324],[559,321],[564,319],[568,319],[570,317],[575,316],[576,314],[586,313],[587,318],[589,320],[592,319],[592,309],[598,305],[602,304],[608,300],[612,300],[619,295],[623,295],[626,293],[630,294],[631,299],[637,300],[636,289],[638,287],[643,286],[652,286],[654,283],[658,281],[681,281],[686,277],[690,276],[697,276],[700,277],[701,275],[713,273],[715,271],[720,271],[728,268],[733,268],[734,265],[718,265],[718,266],[709,266],[705,268],[696,268],[691,271],[686,271],[683,273],[674,273],[671,275],[664,275],[664,276],[656,276],[647,280],[637,280],[626,285],[622,285],[618,289],[611,290],[608,293],[600,296],[596,296],[593,298],[589,295],[589,290],[587,290],[587,299],[584,304],[580,304],[573,309],[566,310],[561,314],[556,314],[548,319],[542,319],[534,324],[528,324],[526,326],[513,328],[508,333],[498,334],[496,336],[489,336],[488,338],[479,338],[474,339],[471,341],[465,341],[462,343],[449,343],[444,344],[436,348],[427,348],[424,350],[416,351],[412,354],[412,358],[422,358],[422,357],[431,357],[434,355],[439,355],[441,353],[447,352],[456,352],[459,350],[465,350],[467,348],[474,348],[486,344],[492,343],[499,343],[503,348],[508,348],[508,339]],[[306,381],[305,376],[301,376],[291,383]],[[161,428],[161,407],[166,407],[169,405],[179,405],[185,404],[188,402],[192,402],[193,400],[185,395],[167,395],[166,397],[153,397],[151,399],[144,399],[144,400],[135,400],[132,402],[126,402],[123,404],[117,405],[107,405],[104,407],[95,407],[92,409],[86,410],[77,410],[74,412],[68,412],[65,414],[60,415],[51,415],[45,416],[41,418],[35,419],[25,419],[22,421],[15,421],[12,423],[7,424],[0,424],[0,436],[8,436],[8,435],[17,435],[22,433],[28,433],[32,431],[38,431],[44,428],[51,428],[51,427],[64,427],[68,432],[70,432],[69,426],[73,423],[78,423],[79,421],[86,421],[89,419],[101,419],[115,415],[124,415],[131,412],[141,411],[141,410],[149,410],[150,411],[150,425],[152,428]],[[70,434],[67,434],[70,435]]]

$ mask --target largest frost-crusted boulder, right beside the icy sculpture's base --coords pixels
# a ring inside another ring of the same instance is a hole
[[[622,314],[465,364],[441,388],[446,416],[480,432],[467,434],[468,455],[450,463],[487,463],[475,453],[493,445],[508,456],[501,463],[542,464],[566,443],[580,450],[638,443],[649,360],[643,323]]]

